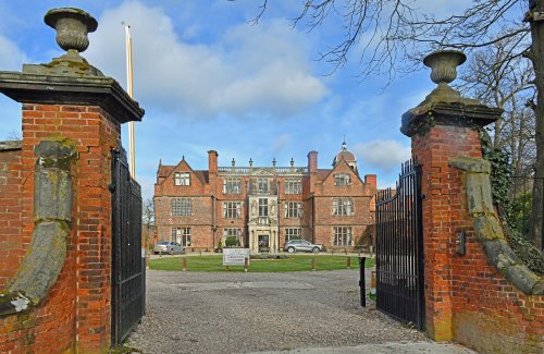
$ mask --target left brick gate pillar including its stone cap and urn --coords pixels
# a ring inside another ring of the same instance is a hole
[[[0,91],[23,103],[23,237],[30,237],[34,229],[33,171],[35,147],[41,141],[70,141],[77,150],[72,222],[66,258],[54,284],[32,310],[32,325],[10,338],[30,338],[24,352],[108,352],[111,149],[121,138],[121,123],[141,120],[144,110],[115,80],[79,56],[88,46],[87,32],[97,28],[94,17],[81,10],[55,9],[45,21],[58,30],[57,41],[66,53],[48,64],[25,64],[22,72],[0,72]]]

